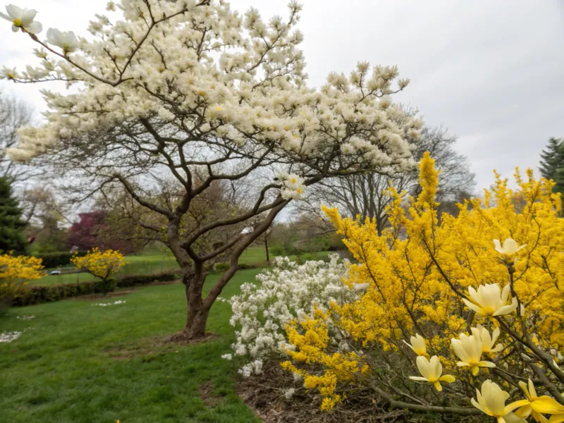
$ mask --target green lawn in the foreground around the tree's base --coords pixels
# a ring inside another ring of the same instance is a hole
[[[239,271],[228,298],[259,269]],[[207,288],[218,275],[207,279]],[[123,305],[94,306],[125,300]],[[163,342],[185,323],[181,284],[138,288],[98,300],[65,300],[8,310],[0,333],[0,421],[11,423],[259,422],[235,393],[230,307],[216,302],[208,330],[220,337],[195,345]],[[35,315],[23,321],[18,316]],[[214,404],[200,386],[211,383]]]

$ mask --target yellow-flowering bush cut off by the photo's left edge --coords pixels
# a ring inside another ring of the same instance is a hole
[[[12,305],[25,281],[44,276],[42,269],[37,257],[0,255],[0,311]]]

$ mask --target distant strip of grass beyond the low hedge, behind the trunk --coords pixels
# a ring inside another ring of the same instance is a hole
[[[310,253],[315,259],[326,257],[329,252]],[[295,256],[290,256],[295,257]],[[271,259],[274,258],[271,256]],[[135,274],[152,274],[161,271],[169,271],[178,269],[176,259],[166,252],[147,252],[142,255],[130,255],[125,257],[127,264],[116,274],[116,276],[128,276]],[[264,266],[266,264],[266,252],[262,247],[250,247],[243,252],[239,262],[241,264],[252,264],[253,266]],[[64,269],[72,269],[68,266]],[[30,285],[50,285],[51,283],[78,283],[84,281],[93,281],[96,279],[88,273],[76,274],[60,274],[53,276],[45,276],[37,281],[30,281]]]

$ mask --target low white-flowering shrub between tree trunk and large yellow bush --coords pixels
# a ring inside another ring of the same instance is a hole
[[[366,286],[349,288],[343,283],[347,262],[331,255],[329,263],[291,262],[288,257],[276,257],[274,266],[257,275],[257,285],[245,283],[240,295],[231,298],[233,316],[230,323],[237,327],[237,341],[231,345],[235,355],[252,358],[240,373],[250,376],[262,372],[262,360],[284,355],[290,348],[285,326],[290,320],[303,319],[315,307],[324,309],[331,301],[342,304],[360,296]]]

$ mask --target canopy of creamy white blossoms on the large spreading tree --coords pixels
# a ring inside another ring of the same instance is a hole
[[[35,11],[8,8],[16,27],[37,32]],[[107,8],[114,11],[116,4]],[[90,22],[95,38],[81,41],[83,54],[72,61],[43,52],[40,66],[10,73],[18,82],[85,86],[80,92],[44,92],[47,123],[20,130],[11,157],[27,159],[99,128],[150,118],[161,133],[181,130],[195,140],[185,147],[193,146],[190,151],[197,151],[198,142],[221,140],[229,149],[242,148],[241,154],[307,164],[297,167],[301,178],[319,166],[319,158],[338,167],[321,169],[324,175],[415,166],[409,140],[422,122],[389,98],[407,80],[398,80],[395,66],[371,70],[359,63],[348,77],[331,73],[321,89],[307,87],[298,48],[303,36],[295,27],[302,7],[296,1],[289,4],[288,19],[268,22],[255,9],[242,16],[226,1],[121,0],[118,8],[121,20],[97,15]],[[55,31],[49,31],[51,44],[66,52],[78,48],[71,32]],[[280,188],[286,199],[297,198],[302,183]]]

